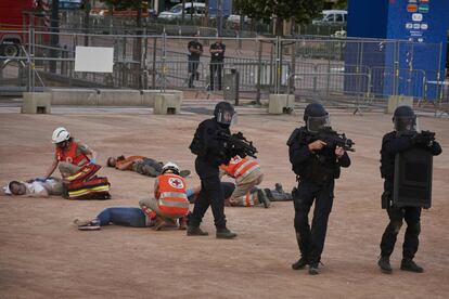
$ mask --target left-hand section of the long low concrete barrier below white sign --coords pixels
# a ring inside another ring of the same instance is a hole
[[[94,89],[51,89],[50,92],[53,105],[98,105],[98,92]]]

